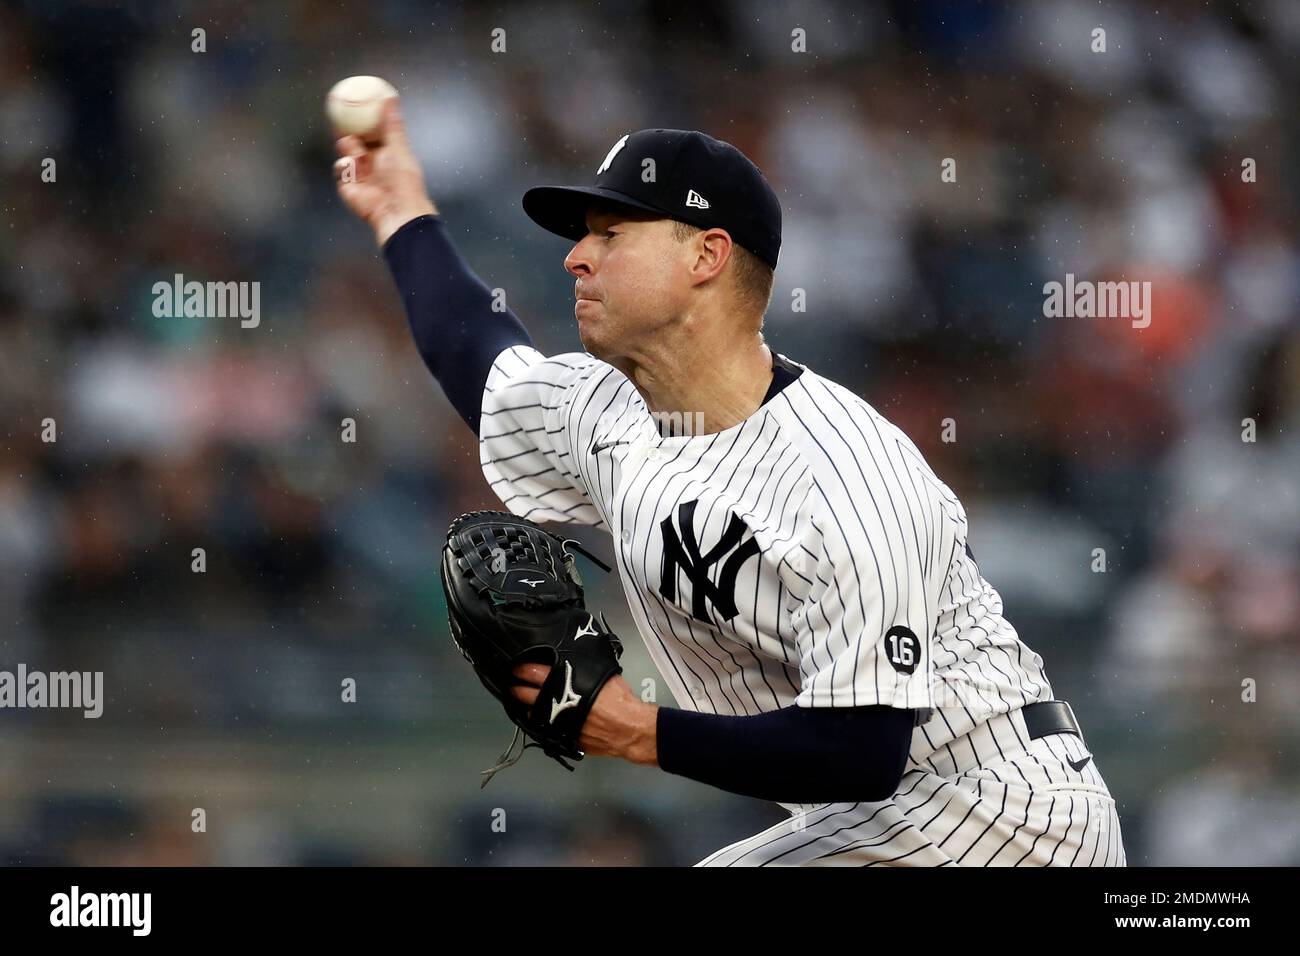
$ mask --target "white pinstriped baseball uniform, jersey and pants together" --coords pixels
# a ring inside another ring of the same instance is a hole
[[[789,821],[699,865],[1124,865],[1084,741],[1030,739],[1019,708],[1052,688],[980,576],[965,510],[848,389],[803,368],[732,428],[660,437],[612,365],[515,346],[488,377],[480,454],[514,514],[614,536],[681,706],[930,711],[889,800],[783,804]]]

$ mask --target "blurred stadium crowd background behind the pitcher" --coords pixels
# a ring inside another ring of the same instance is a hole
[[[645,126],[749,153],[768,342],[962,498],[1130,861],[1300,864],[1297,51],[1287,0],[0,4],[0,669],[105,674],[98,721],[0,710],[0,860],[689,864],[784,816],[536,750],[478,790],[511,727],[436,568],[495,499],[330,177],[325,92],[374,73],[546,351],[528,186]],[[260,282],[260,325],[153,317],[176,273]],[[1066,273],[1152,282],[1150,326],[1044,317]]]

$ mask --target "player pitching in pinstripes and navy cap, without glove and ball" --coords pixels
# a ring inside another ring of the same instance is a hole
[[[766,345],[781,209],[749,159],[641,130],[594,185],[529,190],[524,211],[573,243],[584,347],[543,355],[458,254],[395,101],[384,146],[337,147],[488,483],[514,515],[612,536],[680,702],[614,676],[581,750],[790,812],[699,865],[1126,865],[962,505],[862,398]],[[547,671],[520,666],[512,693],[534,702]]]

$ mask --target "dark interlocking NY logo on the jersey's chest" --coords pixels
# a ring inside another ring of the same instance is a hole
[[[750,536],[741,544],[741,538],[749,528],[734,512],[722,538],[701,555],[699,542],[696,540],[696,505],[699,501],[686,501],[677,506],[677,524],[681,525],[681,536],[672,527],[672,515],[659,523],[663,532],[663,575],[659,579],[659,593],[668,601],[677,600],[677,572],[684,571],[690,579],[690,617],[706,624],[714,620],[708,617],[705,601],[714,605],[714,610],[723,620],[736,617],[736,576],[741,564],[753,558],[759,551],[758,541]],[[723,558],[725,557],[725,561]],[[708,572],[719,561],[723,562],[722,574],[714,581]]]

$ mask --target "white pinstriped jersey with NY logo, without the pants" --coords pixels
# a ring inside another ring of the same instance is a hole
[[[612,365],[515,346],[488,376],[480,460],[514,514],[611,533],[681,706],[916,709],[919,763],[992,714],[1052,700],[961,503],[862,398],[805,367],[722,432],[662,423]]]

